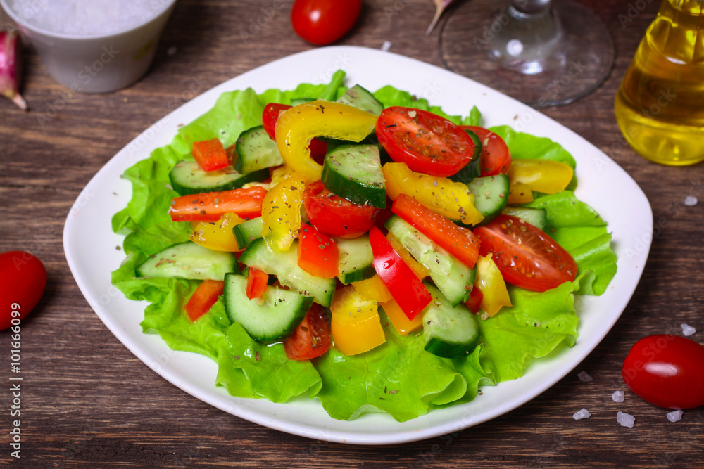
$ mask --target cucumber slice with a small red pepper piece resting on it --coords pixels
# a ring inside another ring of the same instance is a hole
[[[225,276],[225,313],[231,321],[241,324],[257,342],[277,342],[289,337],[313,304],[312,296],[270,286],[264,295],[250,300],[246,288],[246,277],[239,274]]]

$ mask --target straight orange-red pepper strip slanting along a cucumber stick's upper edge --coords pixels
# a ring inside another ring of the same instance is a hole
[[[401,193],[391,211],[472,269],[479,257],[479,238],[472,231],[457,226],[408,195]]]

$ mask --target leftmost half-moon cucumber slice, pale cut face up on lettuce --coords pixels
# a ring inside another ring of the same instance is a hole
[[[222,280],[228,272],[239,273],[232,252],[213,251],[186,241],[166,248],[137,266],[137,276]]]

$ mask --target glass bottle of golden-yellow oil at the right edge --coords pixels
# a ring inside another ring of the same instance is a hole
[[[704,0],[664,0],[616,95],[629,145],[663,165],[704,160]]]

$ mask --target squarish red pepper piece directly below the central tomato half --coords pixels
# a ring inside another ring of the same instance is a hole
[[[301,223],[298,231],[298,266],[316,277],[337,277],[339,251],[334,240],[313,226]]]

